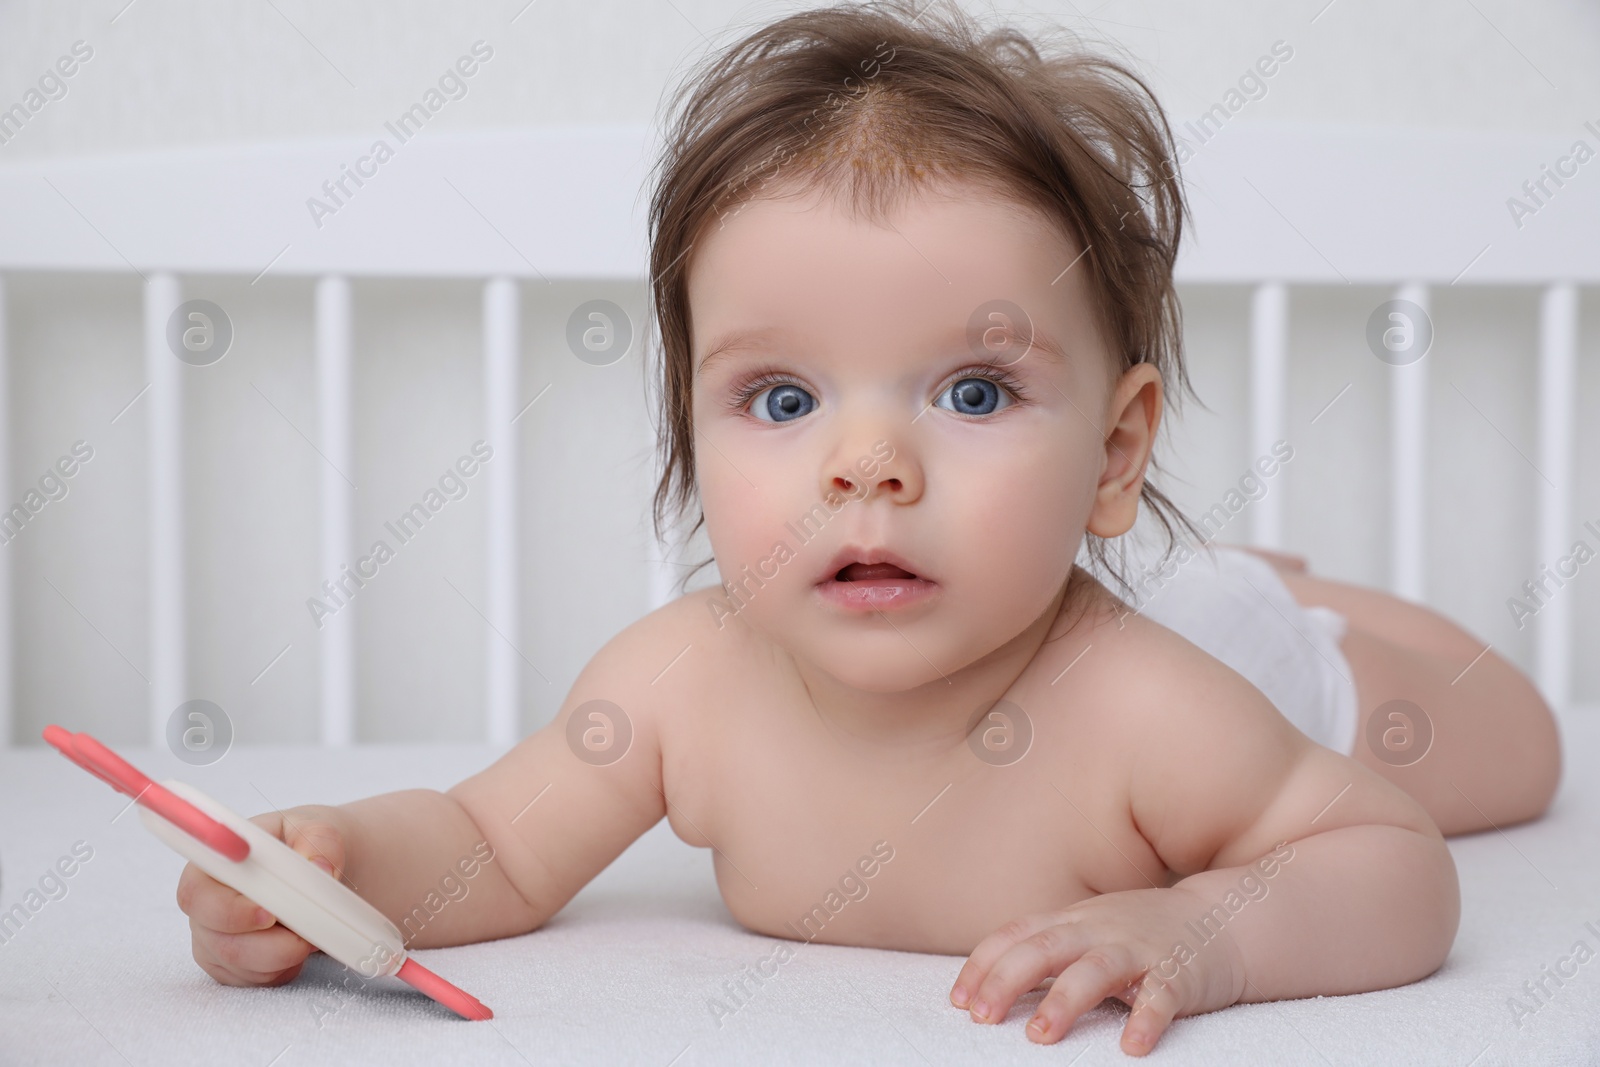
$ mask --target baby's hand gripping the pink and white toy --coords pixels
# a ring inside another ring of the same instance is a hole
[[[344,835],[326,808],[290,808],[251,819],[301,856],[338,877]],[[286,819],[285,819],[286,817]],[[285,824],[286,822],[286,824]],[[237,889],[194,864],[178,878],[178,907],[189,915],[195,963],[224,985],[293,982],[315,947]]]

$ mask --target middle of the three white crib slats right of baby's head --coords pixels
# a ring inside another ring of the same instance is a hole
[[[1427,286],[1402,285],[1395,299],[1429,310]],[[1389,368],[1390,483],[1390,589],[1397,597],[1422,601],[1427,592],[1424,545],[1427,544],[1427,354]],[[1437,358],[1437,357],[1434,357]]]

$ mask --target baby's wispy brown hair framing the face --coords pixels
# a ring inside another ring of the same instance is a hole
[[[714,221],[779,189],[838,192],[872,219],[938,178],[1034,206],[1086,250],[1080,267],[1115,373],[1154,363],[1170,390],[1194,394],[1173,288],[1187,206],[1171,130],[1150,90],[1064,30],[1066,45],[1042,56],[1013,27],[984,32],[954,3],[920,0],[930,10],[918,13],[917,2],[787,16],[712,54],[669,101],[675,114],[650,205],[651,318],[661,331],[658,537],[662,520],[677,520],[696,498],[690,251]],[[1176,410],[1181,394],[1170,400]],[[1141,501],[1168,550],[1174,523],[1203,539],[1149,477]],[[701,512],[688,534],[704,522]],[[1110,542],[1085,536],[1091,560],[1131,592],[1107,558]]]

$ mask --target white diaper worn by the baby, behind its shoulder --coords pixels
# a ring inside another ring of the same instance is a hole
[[[1179,565],[1174,549],[1157,568],[1162,547],[1126,545],[1123,573],[1136,590],[1128,603],[1242,673],[1312,741],[1354,752],[1360,712],[1339,648],[1344,616],[1301,606],[1274,566],[1250,552],[1213,544],[1190,549]],[[1114,582],[1107,589],[1117,592]]]

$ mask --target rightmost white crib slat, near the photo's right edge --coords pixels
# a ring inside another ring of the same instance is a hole
[[[1578,405],[1578,290],[1558,282],[1539,301],[1539,565],[1560,581],[1557,561],[1571,549],[1574,426]],[[1558,712],[1571,704],[1571,595],[1554,595],[1534,616],[1534,675],[1546,701]]]

